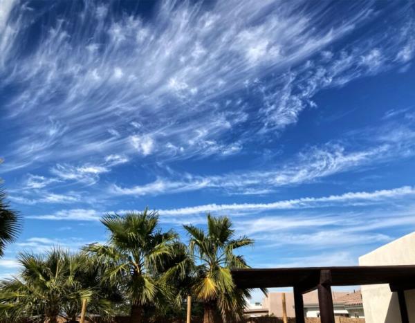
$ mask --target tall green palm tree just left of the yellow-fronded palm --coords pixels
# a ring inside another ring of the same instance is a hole
[[[174,257],[177,234],[161,232],[158,214],[146,208],[124,216],[107,214],[101,222],[109,230],[107,245],[93,243],[85,248],[107,266],[105,279],[122,286],[131,304],[130,322],[142,322],[145,308],[159,306],[169,290],[160,279],[164,261]]]

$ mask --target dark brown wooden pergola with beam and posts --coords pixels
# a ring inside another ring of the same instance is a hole
[[[415,289],[415,266],[233,269],[238,288],[293,287],[295,322],[304,323],[302,295],[317,289],[322,323],[334,323],[331,286],[389,284],[398,293],[402,323],[409,323],[405,290]]]

